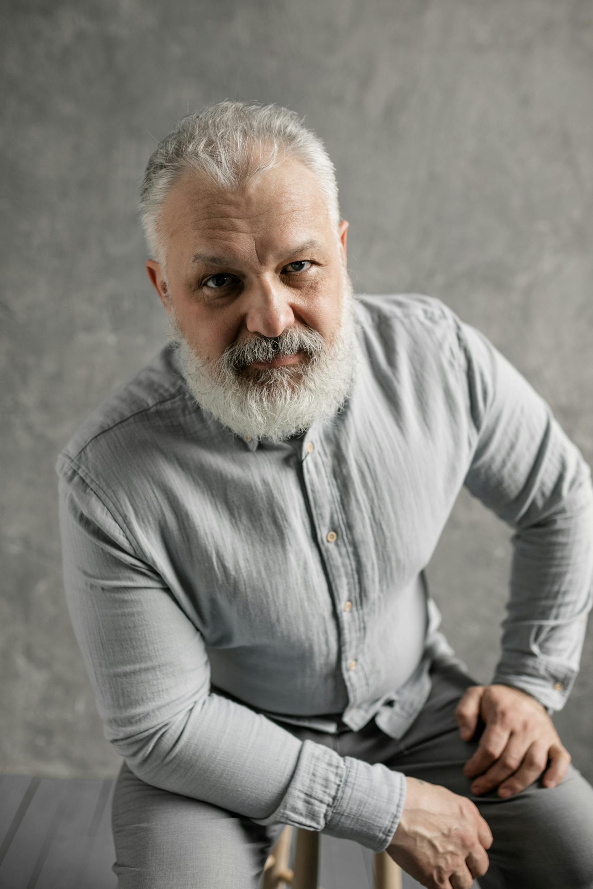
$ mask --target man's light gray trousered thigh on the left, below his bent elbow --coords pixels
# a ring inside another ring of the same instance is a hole
[[[111,826],[118,889],[256,889],[284,825],[264,827],[140,781],[125,761]]]

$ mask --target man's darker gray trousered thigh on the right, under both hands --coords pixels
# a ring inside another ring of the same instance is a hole
[[[436,669],[432,679],[426,705],[400,740],[389,738],[372,722],[363,730],[357,754],[353,750],[349,755],[362,753],[369,762],[382,762],[469,797],[493,832],[490,867],[479,880],[483,889],[593,889],[589,781],[570,765],[565,780],[555,788],[544,787],[538,779],[515,797],[498,797],[496,789],[476,796],[470,789],[472,780],[462,770],[477,749],[485,724],[480,719],[474,738],[462,741],[454,709],[465,689],[477,681],[455,666]]]

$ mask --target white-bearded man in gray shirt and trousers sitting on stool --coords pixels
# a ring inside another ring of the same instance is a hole
[[[355,296],[294,112],[184,118],[140,210],[169,341],[56,464],[68,609],[124,757],[120,889],[254,889],[284,824],[429,887],[593,887],[593,789],[550,718],[591,606],[581,452],[443,302]],[[490,685],[424,571],[462,485],[515,529]]]

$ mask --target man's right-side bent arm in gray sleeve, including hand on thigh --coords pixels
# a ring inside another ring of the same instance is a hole
[[[492,684],[471,686],[456,716],[465,740],[478,716],[486,724],[464,769],[480,776],[473,792],[499,786],[504,796],[549,759],[546,786],[570,763],[549,716],[572,690],[593,604],[593,486],[549,405],[482,333],[457,328],[476,429],[464,484],[514,533],[501,658]]]

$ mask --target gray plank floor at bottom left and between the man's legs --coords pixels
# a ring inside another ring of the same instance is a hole
[[[110,821],[114,783],[0,776],[2,889],[116,889]],[[322,836],[319,885],[372,889],[373,853]],[[405,874],[404,889],[420,885]]]

